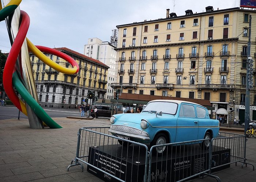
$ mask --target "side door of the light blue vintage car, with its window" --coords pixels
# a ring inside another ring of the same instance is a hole
[[[196,140],[198,135],[198,119],[193,104],[181,104],[177,119],[175,142]]]

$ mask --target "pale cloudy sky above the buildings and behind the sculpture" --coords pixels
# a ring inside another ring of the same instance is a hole
[[[175,4],[175,6],[174,6]],[[205,12],[239,6],[239,0],[23,0],[20,9],[30,16],[27,37],[46,47],[67,47],[84,53],[89,38],[110,41],[116,25],[166,17],[166,9],[177,16],[185,10]],[[0,50],[11,48],[5,21],[0,22]]]

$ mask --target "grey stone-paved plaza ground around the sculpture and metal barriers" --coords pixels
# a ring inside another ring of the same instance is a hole
[[[67,166],[75,158],[77,132],[85,127],[86,122],[108,120],[97,118],[83,120],[69,118],[54,118],[61,129],[31,129],[27,119],[0,120],[0,181],[86,181],[98,182],[99,178],[84,172],[79,166],[73,166],[67,172]],[[225,128],[225,127],[223,127]],[[241,133],[241,131],[240,131]],[[248,162],[256,166],[256,139],[249,138],[247,142]],[[231,165],[229,169],[215,173],[221,181],[251,181],[256,175],[252,166],[241,168]],[[212,181],[214,178],[193,179],[192,181]]]

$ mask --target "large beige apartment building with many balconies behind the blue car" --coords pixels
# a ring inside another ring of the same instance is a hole
[[[117,25],[114,89],[124,93],[208,99],[213,118],[244,120],[249,15],[255,58],[256,12],[241,8],[166,12],[166,18]],[[255,80],[254,80],[255,82]],[[256,106],[255,89],[251,105]],[[251,107],[251,119],[256,110]],[[232,111],[232,112],[230,112]],[[234,111],[234,112],[233,112]]]

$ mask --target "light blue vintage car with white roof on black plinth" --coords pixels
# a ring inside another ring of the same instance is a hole
[[[112,115],[110,122],[112,135],[150,146],[211,139],[219,132],[219,121],[210,119],[206,107],[181,100],[153,100],[141,113]],[[209,142],[200,145],[207,148]],[[155,149],[161,154],[166,147]]]

